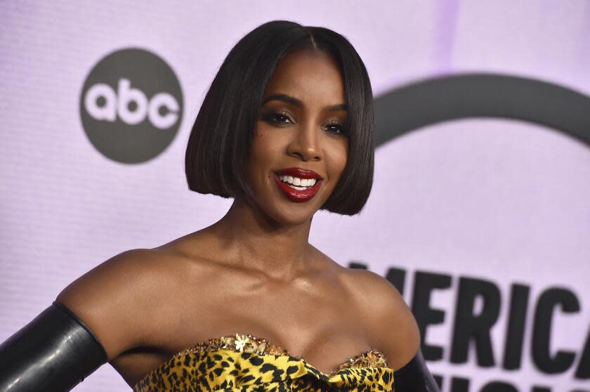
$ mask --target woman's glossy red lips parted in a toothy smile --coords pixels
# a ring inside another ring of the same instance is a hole
[[[307,202],[315,196],[323,181],[313,170],[290,167],[275,172],[275,182],[285,196],[293,202]]]

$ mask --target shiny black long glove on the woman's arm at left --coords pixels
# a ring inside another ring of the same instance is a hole
[[[0,345],[0,392],[70,391],[105,362],[90,328],[53,301]]]

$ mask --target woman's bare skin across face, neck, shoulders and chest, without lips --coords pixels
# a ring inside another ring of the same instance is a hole
[[[329,55],[289,53],[266,86],[254,133],[246,169],[253,200],[235,199],[214,225],[160,247],[124,251],[58,295],[129,386],[192,344],[236,333],[268,339],[325,373],[369,349],[393,370],[414,357],[419,330],[395,287],[308,242],[313,214],[348,159],[343,103]],[[308,202],[277,187],[274,172],[288,167],[324,178]]]

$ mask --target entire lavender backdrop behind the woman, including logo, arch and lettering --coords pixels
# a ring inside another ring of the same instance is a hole
[[[223,216],[188,190],[188,135],[276,19],[346,36],[376,101],[367,207],[318,213],[310,242],[398,287],[442,391],[590,391],[582,0],[2,2],[0,341],[106,259]],[[75,390],[129,386],[105,365]]]

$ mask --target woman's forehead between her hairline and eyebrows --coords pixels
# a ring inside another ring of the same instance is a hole
[[[285,93],[306,101],[344,102],[344,82],[338,64],[322,51],[294,51],[277,64],[264,96]]]

